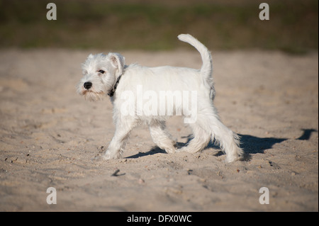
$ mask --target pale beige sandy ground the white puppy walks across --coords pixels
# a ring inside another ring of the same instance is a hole
[[[213,52],[215,103],[245,149],[232,164],[213,144],[166,154],[145,126],[123,159],[92,160],[114,125],[108,98],[76,94],[90,52],[99,51],[0,51],[1,211],[318,211],[318,52]],[[196,50],[121,53],[128,64],[201,67]],[[181,118],[167,125],[188,141]],[[49,187],[56,205],[46,202]]]

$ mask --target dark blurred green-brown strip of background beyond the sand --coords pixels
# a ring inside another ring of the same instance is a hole
[[[262,2],[269,21],[259,20]],[[318,0],[0,0],[0,48],[173,50],[186,46],[180,33],[214,50],[318,50]]]

